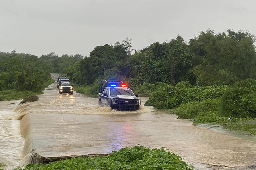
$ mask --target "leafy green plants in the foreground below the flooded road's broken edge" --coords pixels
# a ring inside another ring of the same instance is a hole
[[[52,162],[49,164],[30,164],[25,170],[193,170],[183,159],[165,148],[148,149],[143,146],[126,147],[112,151],[108,156],[78,157],[64,161]]]

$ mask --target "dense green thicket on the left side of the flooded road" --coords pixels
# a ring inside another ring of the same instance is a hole
[[[51,79],[52,68],[37,56],[0,52],[0,101],[41,94]]]

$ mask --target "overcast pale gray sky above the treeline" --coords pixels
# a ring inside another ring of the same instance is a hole
[[[0,0],[0,51],[89,55],[132,38],[134,49],[208,28],[256,34],[255,0]]]

